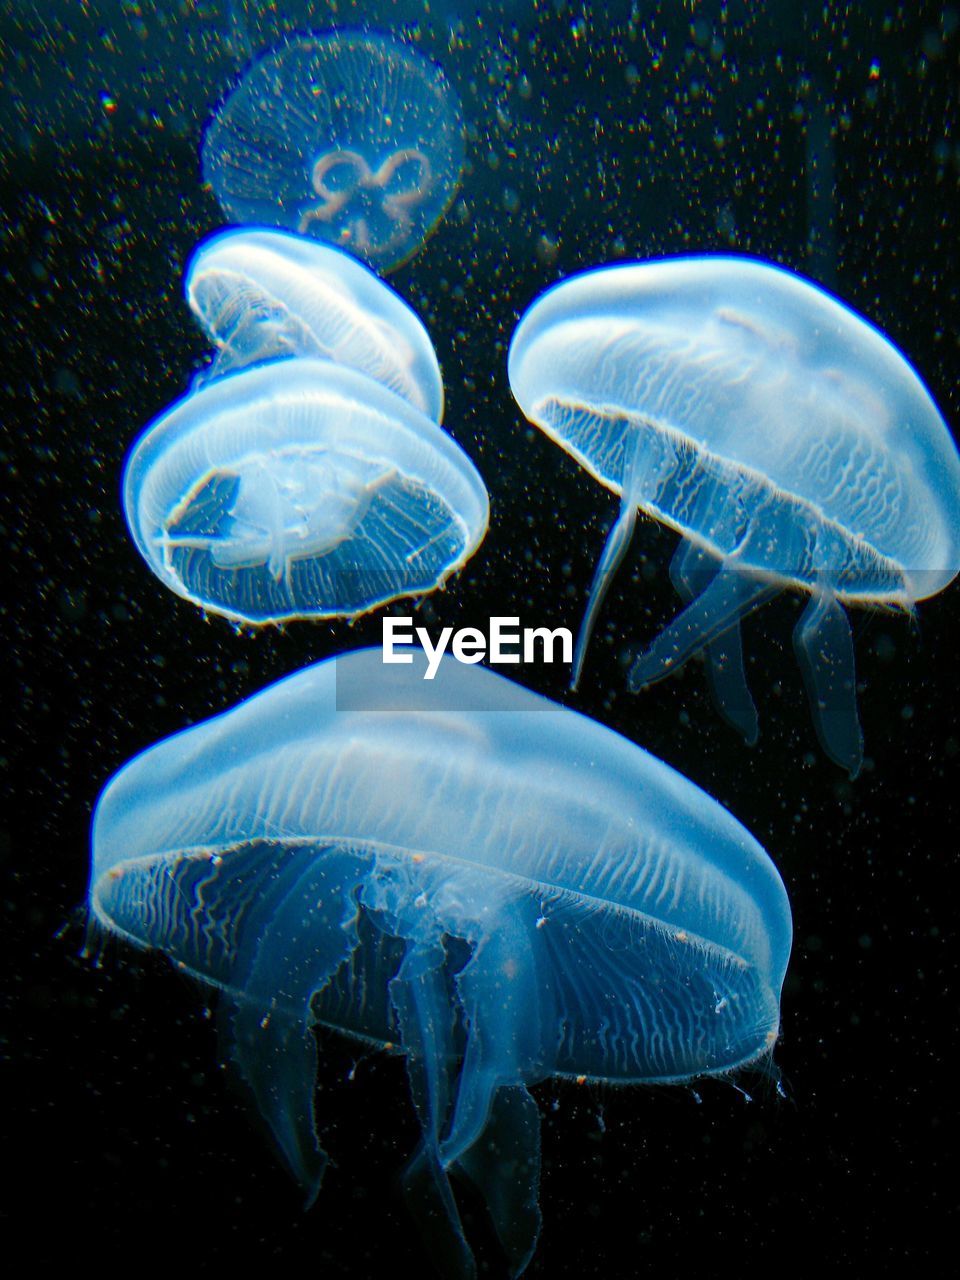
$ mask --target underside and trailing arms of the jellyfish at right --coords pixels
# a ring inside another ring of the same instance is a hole
[[[758,717],[746,684],[740,622],[783,589],[805,588],[810,599],[794,631],[794,649],[820,745],[854,778],[863,763],[863,735],[852,636],[838,595],[845,585],[869,575],[878,584],[878,595],[904,599],[902,573],[870,548],[845,540],[836,526],[799,499],[778,494],[773,485],[745,480],[735,468],[717,466],[716,460],[713,466],[704,465],[694,454],[653,430],[625,434],[620,515],[590,586],[572,687],[580,680],[603,598],[630,545],[639,507],[676,517],[682,506],[682,524],[708,531],[714,545],[731,549],[718,556],[692,538],[681,538],[671,580],[686,607],[635,658],[628,689],[637,692],[663,680],[703,650],[721,716],[753,745]],[[778,567],[767,567],[771,561]],[[837,567],[820,568],[820,563]]]

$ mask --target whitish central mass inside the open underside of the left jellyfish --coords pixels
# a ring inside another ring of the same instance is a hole
[[[224,474],[233,490],[220,527],[212,534],[177,529],[210,488],[207,474],[173,512],[157,544],[168,556],[178,548],[204,550],[223,570],[266,564],[289,591],[293,563],[349,538],[396,471],[329,449],[292,449],[250,454],[218,479]]]

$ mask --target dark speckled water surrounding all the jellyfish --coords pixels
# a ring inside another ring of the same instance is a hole
[[[219,1065],[204,992],[160,957],[109,947],[100,968],[83,961],[77,923],[91,806],[123,762],[308,660],[379,643],[378,617],[262,635],[205,620],[146,571],[118,492],[128,445],[205,353],[180,276],[220,224],[197,165],[211,106],[283,32],[362,20],[443,63],[470,129],[458,202],[392,278],[433,335],[445,425],[492,495],[484,545],[428,618],[579,622],[614,502],[526,429],[506,379],[518,314],[575,270],[718,250],[799,269],[888,333],[960,430],[956,5],[0,5],[13,568],[0,1149],[4,1248],[19,1242],[35,1265],[430,1274],[397,1192],[416,1142],[399,1059],[324,1037],[317,1112],[335,1167],[305,1216]],[[832,202],[812,182],[812,138],[831,136]],[[678,767],[771,851],[796,928],[776,1051],[786,1098],[749,1073],[736,1083],[751,1101],[721,1082],[536,1087],[544,1229],[530,1275],[776,1274],[800,1257],[945,1274],[960,588],[922,604],[916,628],[852,614],[868,764],[851,785],[814,741],[795,599],[745,627],[753,751],[696,664],[625,691],[625,645],[677,609],[673,541],[641,524],[580,694],[561,671],[521,678]],[[499,1275],[470,1201],[467,1221]]]

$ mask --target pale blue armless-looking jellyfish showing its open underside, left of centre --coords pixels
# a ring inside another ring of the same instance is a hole
[[[166,586],[253,625],[433,591],[489,513],[442,428],[365,374],[306,358],[178,401],[134,444],[123,503]]]

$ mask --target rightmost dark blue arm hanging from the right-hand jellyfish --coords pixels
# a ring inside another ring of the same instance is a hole
[[[863,764],[854,639],[832,588],[820,586],[810,595],[794,630],[794,652],[820,746],[852,781]]]

